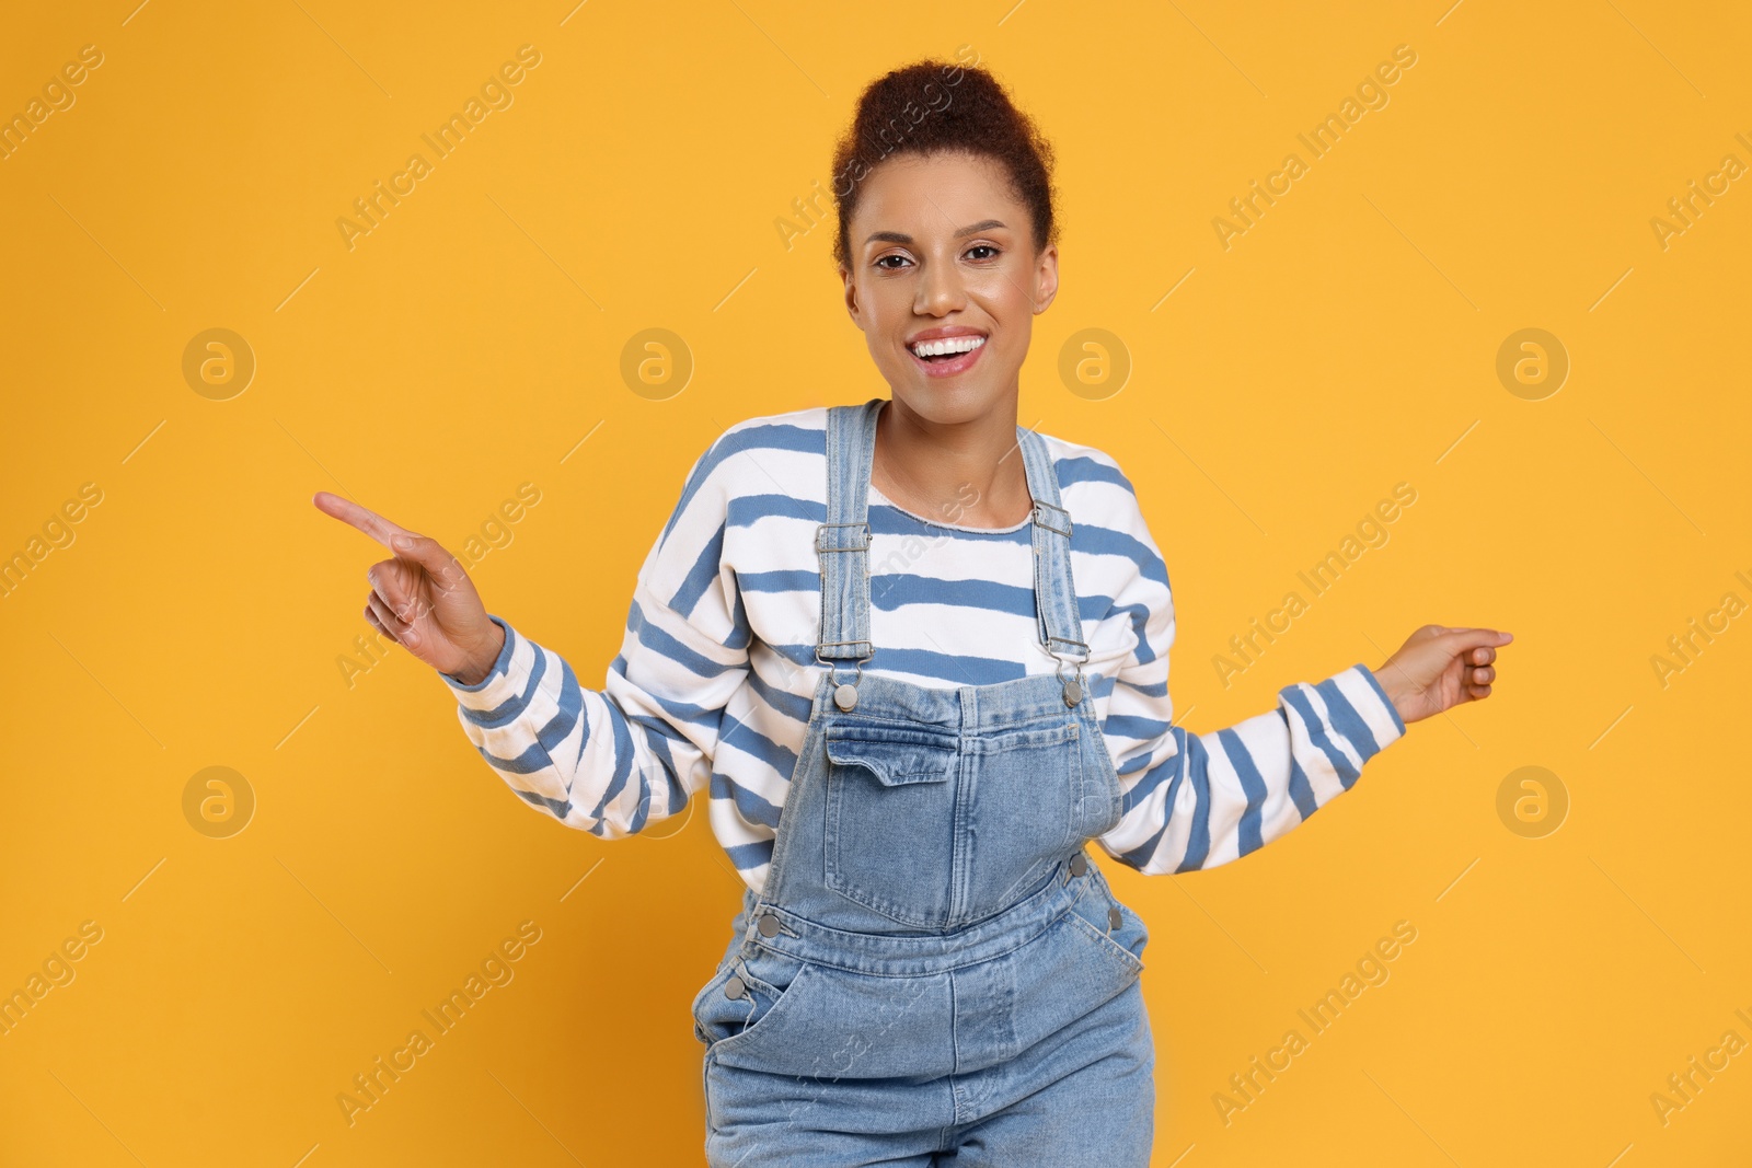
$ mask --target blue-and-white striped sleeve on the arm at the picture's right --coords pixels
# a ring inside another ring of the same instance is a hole
[[[1146,876],[1214,869],[1351,790],[1363,763],[1405,734],[1405,721],[1358,662],[1325,681],[1284,686],[1274,711],[1226,730],[1172,725],[1174,597],[1142,513],[1128,524],[1144,552],[1114,608],[1130,620],[1135,644],[1114,674],[1102,727],[1125,813],[1100,846]]]

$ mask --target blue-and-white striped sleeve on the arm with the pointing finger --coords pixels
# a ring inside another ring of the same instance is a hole
[[[713,443],[689,473],[639,567],[601,690],[582,688],[566,658],[498,615],[505,646],[487,676],[440,674],[487,765],[566,827],[622,839],[683,811],[710,781],[724,707],[748,674],[736,576],[720,564],[720,464]]]

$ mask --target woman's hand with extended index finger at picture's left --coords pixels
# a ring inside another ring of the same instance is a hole
[[[352,524],[394,553],[366,569],[364,618],[391,641],[463,685],[487,676],[505,648],[505,630],[487,616],[463,564],[436,539],[398,527],[350,499],[319,490],[324,515]]]

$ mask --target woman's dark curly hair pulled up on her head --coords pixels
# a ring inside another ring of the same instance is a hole
[[[1034,219],[1034,249],[1058,242],[1053,217],[1053,147],[1034,119],[983,68],[922,60],[883,74],[858,98],[851,128],[834,145],[834,201],[839,235],[834,259],[850,268],[846,226],[864,179],[895,154],[967,152],[1009,172],[1016,196]]]

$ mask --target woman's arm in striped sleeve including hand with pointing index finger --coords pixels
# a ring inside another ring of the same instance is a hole
[[[711,450],[696,461],[645,557],[601,690],[580,686],[559,653],[489,615],[436,541],[328,492],[315,504],[396,552],[368,573],[366,620],[438,671],[482,758],[533,807],[620,839],[710,785],[724,707],[748,674],[736,574],[718,562],[727,506],[710,482],[718,462]]]

